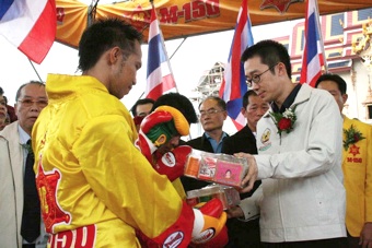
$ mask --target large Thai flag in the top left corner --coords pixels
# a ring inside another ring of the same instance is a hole
[[[28,59],[40,63],[57,29],[55,0],[4,0],[0,4],[0,35]]]

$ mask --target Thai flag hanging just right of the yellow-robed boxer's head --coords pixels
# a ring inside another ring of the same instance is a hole
[[[176,88],[171,63],[166,55],[163,35],[159,27],[155,8],[152,5],[149,29],[148,83],[144,97],[158,99],[165,92]]]

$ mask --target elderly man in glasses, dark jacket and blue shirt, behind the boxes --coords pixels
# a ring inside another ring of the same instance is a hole
[[[223,121],[228,117],[226,103],[217,96],[208,96],[199,105],[200,123],[205,133],[186,142],[193,149],[210,153],[221,153],[222,141],[228,133],[222,131]],[[197,180],[190,177],[181,177],[185,191],[200,189],[210,185],[208,181]]]

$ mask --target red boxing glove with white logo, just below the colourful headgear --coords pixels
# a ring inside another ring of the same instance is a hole
[[[171,181],[174,181],[184,175],[185,163],[191,151],[193,149],[188,145],[175,147],[158,158],[153,167],[160,175],[166,175]]]

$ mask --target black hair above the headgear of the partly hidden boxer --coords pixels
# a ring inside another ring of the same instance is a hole
[[[174,107],[179,110],[189,125],[198,122],[198,117],[196,115],[195,108],[191,102],[186,96],[174,92],[164,94],[155,101],[155,104],[152,106],[152,110],[154,110],[159,106],[164,105]]]

